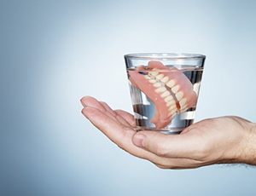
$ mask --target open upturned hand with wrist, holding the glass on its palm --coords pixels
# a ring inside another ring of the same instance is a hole
[[[190,169],[209,164],[256,165],[256,124],[227,116],[207,118],[180,135],[134,130],[133,116],[85,96],[82,113],[120,148],[162,169]]]

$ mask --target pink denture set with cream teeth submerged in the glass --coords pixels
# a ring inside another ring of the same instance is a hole
[[[178,113],[195,107],[193,85],[176,67],[149,61],[148,66],[138,66],[137,71],[129,71],[130,81],[153,101],[156,112],[151,123],[156,129],[165,128]]]

